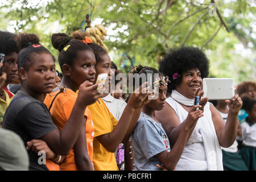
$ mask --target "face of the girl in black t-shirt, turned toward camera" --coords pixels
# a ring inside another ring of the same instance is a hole
[[[55,88],[55,62],[49,53],[35,53],[28,71],[20,76],[27,88],[37,94],[51,93]],[[21,69],[21,68],[20,68]]]

